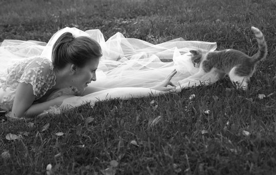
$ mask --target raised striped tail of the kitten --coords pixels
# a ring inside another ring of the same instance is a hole
[[[267,45],[264,40],[264,36],[263,36],[262,32],[258,28],[251,26],[251,30],[254,32],[254,34],[256,36],[256,39],[258,42],[258,47],[259,47],[258,52],[256,52],[252,56],[253,61],[257,62],[257,61],[265,58],[265,56],[267,54]]]

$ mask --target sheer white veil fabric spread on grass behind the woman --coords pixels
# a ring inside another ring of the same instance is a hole
[[[125,38],[119,32],[105,41],[99,29],[82,31],[75,27],[66,27],[56,32],[47,44],[34,40],[4,40],[0,46],[0,71],[5,70],[10,63],[32,56],[40,55],[51,60],[52,47],[64,32],[71,32],[75,37],[89,36],[100,43],[103,56],[96,72],[97,81],[91,82],[89,86],[108,89],[67,98],[62,107],[77,107],[87,102],[93,106],[96,101],[110,98],[128,99],[166,93],[149,87],[160,83],[173,69],[176,69],[177,73],[171,81],[177,84],[177,91],[200,85],[201,81],[206,79],[189,77],[198,71],[191,62],[189,50],[216,49],[216,42],[186,41],[180,37],[160,44],[151,44],[136,38]],[[208,77],[208,83],[217,79],[216,75]],[[49,111],[59,113],[60,109],[54,106],[47,112]]]

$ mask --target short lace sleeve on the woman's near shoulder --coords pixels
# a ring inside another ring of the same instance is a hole
[[[19,82],[32,84],[34,95],[39,98],[54,85],[54,77],[52,75],[53,68],[51,61],[43,58],[35,58],[26,65]]]

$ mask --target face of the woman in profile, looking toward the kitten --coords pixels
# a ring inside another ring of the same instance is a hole
[[[72,79],[72,86],[75,86],[81,92],[91,81],[96,81],[96,69],[98,68],[100,58],[93,58],[87,61],[84,67],[76,67],[76,72]]]

